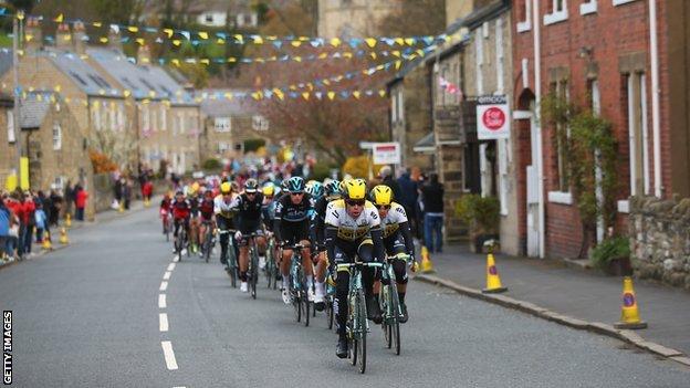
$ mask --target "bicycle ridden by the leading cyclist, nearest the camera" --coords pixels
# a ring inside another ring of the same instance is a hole
[[[349,289],[347,292],[347,303],[349,311],[345,329],[349,342],[349,355],[352,365],[359,365],[359,373],[366,371],[366,335],[369,331],[367,322],[366,300],[364,286],[362,284],[362,270],[365,268],[381,268],[381,263],[344,263],[337,264],[337,270],[349,271]]]

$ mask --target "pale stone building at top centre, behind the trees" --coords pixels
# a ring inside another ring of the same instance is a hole
[[[378,36],[379,22],[398,0],[318,0],[318,36]]]

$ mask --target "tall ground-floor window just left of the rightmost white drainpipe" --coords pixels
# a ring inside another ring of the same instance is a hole
[[[649,134],[647,126],[647,77],[645,73],[625,76],[630,140],[630,196],[650,193]]]

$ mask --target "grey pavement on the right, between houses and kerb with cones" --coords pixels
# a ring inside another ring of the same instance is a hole
[[[620,318],[621,277],[595,270],[575,269],[569,263],[495,255],[504,294],[535,307],[587,323],[613,325]],[[485,254],[463,245],[443,248],[431,255],[439,280],[481,290],[485,286]],[[690,355],[690,293],[648,281],[634,281],[639,313],[648,328],[635,331],[644,340]]]

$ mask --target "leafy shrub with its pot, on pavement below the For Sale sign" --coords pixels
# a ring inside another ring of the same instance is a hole
[[[469,228],[472,252],[482,252],[488,240],[499,240],[500,212],[501,205],[495,197],[464,195],[456,202],[456,214]]]

